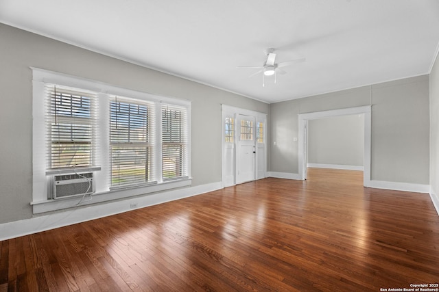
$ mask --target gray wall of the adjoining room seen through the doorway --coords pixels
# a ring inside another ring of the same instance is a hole
[[[364,114],[308,121],[308,163],[364,165]]]

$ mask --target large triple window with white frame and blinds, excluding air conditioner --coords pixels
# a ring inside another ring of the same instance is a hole
[[[93,173],[95,194],[103,196],[82,204],[191,185],[189,101],[32,72],[34,213],[78,203],[77,196],[52,199],[59,174]]]

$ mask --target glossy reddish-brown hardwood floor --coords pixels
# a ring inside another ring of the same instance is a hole
[[[309,169],[0,241],[0,291],[380,291],[439,282],[428,194]],[[436,289],[436,287],[433,287]]]

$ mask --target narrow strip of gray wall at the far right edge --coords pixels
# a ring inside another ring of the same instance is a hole
[[[430,186],[439,191],[439,57],[430,73]],[[438,210],[439,212],[439,210]]]

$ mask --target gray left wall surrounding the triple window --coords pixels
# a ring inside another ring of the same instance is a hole
[[[192,101],[193,186],[221,181],[221,104],[269,105],[0,24],[0,224],[32,217],[29,66]],[[209,163],[206,163],[209,161]]]

